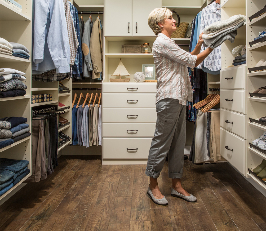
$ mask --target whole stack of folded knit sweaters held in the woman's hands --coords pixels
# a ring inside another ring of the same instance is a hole
[[[234,15],[229,19],[210,24],[203,30],[203,46],[214,49],[215,47],[220,46],[226,40],[229,40],[231,43],[233,43],[235,36],[237,35],[236,30],[243,26],[245,21],[246,16],[239,14]]]

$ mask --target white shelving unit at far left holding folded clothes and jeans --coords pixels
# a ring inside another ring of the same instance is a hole
[[[23,13],[13,10],[12,7],[6,3],[0,2],[0,37],[9,42],[23,44],[30,50],[29,54],[31,55],[32,1],[17,0],[17,2],[22,5]],[[25,72],[26,80],[24,80],[23,83],[27,85],[25,96],[0,99],[0,106],[2,109],[0,111],[0,118],[8,116],[26,117],[31,132],[31,59],[27,60],[1,54],[0,63],[1,67],[13,68]],[[0,149],[0,158],[28,160],[28,168],[31,170],[31,136]],[[30,175],[31,173],[5,194],[0,196],[0,204],[21,188],[21,184]]]

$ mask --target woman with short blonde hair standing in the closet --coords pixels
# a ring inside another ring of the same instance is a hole
[[[186,141],[186,101],[193,99],[187,67],[197,67],[213,49],[207,48],[200,53],[202,34],[191,53],[178,47],[170,38],[176,30],[176,20],[168,8],[154,9],[149,14],[148,24],[158,36],[152,47],[157,77],[157,121],[146,168],[146,175],[151,181],[147,193],[154,203],[168,204],[157,183],[168,154],[171,195],[195,202],[197,198],[186,192],[181,185]]]

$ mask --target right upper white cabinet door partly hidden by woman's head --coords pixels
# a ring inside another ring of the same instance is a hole
[[[161,7],[161,0],[133,0],[134,36],[155,36],[148,25],[148,16],[153,9],[158,7]]]

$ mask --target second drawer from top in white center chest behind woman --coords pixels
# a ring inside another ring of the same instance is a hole
[[[103,108],[155,108],[155,95],[152,94],[109,94],[102,95]],[[134,101],[131,101],[134,100]]]

